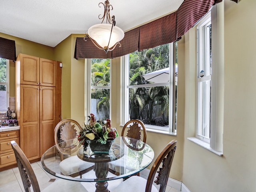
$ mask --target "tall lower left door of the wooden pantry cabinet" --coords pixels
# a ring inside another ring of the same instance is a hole
[[[29,160],[40,158],[39,86],[20,85],[20,147]]]

